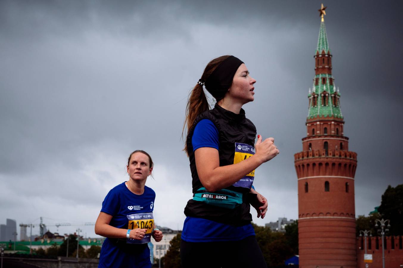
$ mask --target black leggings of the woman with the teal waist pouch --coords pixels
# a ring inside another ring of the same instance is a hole
[[[182,240],[181,260],[183,268],[267,268],[254,235],[239,241],[192,243]]]

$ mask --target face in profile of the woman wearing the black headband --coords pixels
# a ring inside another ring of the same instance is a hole
[[[249,76],[249,71],[245,64],[242,63],[237,72],[234,75],[231,87],[228,89],[226,95],[229,95],[231,99],[239,101],[242,104],[252,102],[254,100],[253,95],[255,92],[253,90],[253,84],[256,80]]]

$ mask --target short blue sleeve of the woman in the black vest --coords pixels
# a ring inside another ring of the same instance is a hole
[[[192,136],[193,152],[202,147],[218,150],[218,130],[211,120],[203,119],[197,123]]]

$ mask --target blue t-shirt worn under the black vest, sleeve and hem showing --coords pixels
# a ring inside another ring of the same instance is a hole
[[[218,150],[218,130],[211,120],[203,119],[197,123],[192,146],[193,152],[202,147]],[[182,231],[182,239],[187,242],[238,241],[251,235],[255,235],[252,224],[232,226],[196,217],[186,217]]]

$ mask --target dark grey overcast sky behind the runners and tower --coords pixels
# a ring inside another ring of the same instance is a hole
[[[187,95],[225,54],[257,80],[244,108],[280,149],[256,170],[269,212],[253,221],[296,219],[293,155],[306,135],[320,3],[0,1],[0,223],[43,216],[52,232],[95,236],[82,224],[96,221],[108,191],[127,180],[127,157],[143,149],[155,162],[146,185],[156,222],[182,229],[192,197],[181,151]],[[324,5],[344,133],[358,154],[355,214],[367,215],[403,182],[403,4]],[[67,222],[76,225],[52,226]]]

